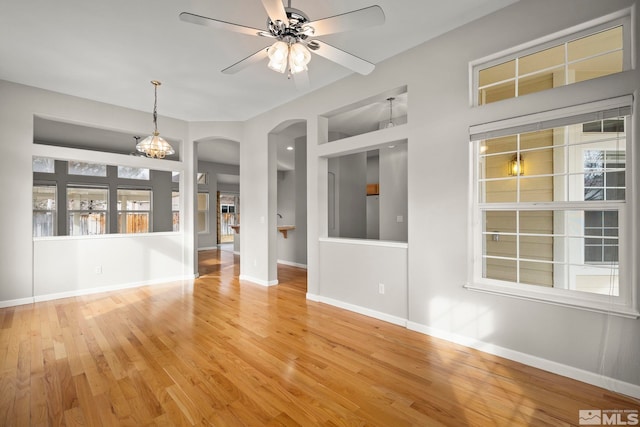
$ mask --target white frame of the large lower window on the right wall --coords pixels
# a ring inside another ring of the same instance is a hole
[[[571,117],[576,119],[585,118],[584,121],[593,120],[589,117],[598,117],[598,114],[602,111],[611,111],[615,109],[626,109],[627,113],[622,115],[629,115],[630,119],[627,120],[628,128],[625,129],[627,135],[626,143],[626,156],[627,159],[633,159],[633,148],[635,141],[633,140],[633,131],[631,129],[631,123],[633,122],[633,111],[631,107],[633,105],[632,96],[623,96],[619,98],[613,98],[603,101],[592,102],[589,104],[578,105],[567,108],[559,108],[556,110],[545,111],[541,113],[534,113],[528,116],[522,116],[517,118],[499,120],[492,123],[482,124],[478,126],[472,126],[470,128],[470,140],[480,141],[497,136],[511,135],[514,133],[524,133],[527,131],[538,130],[541,128],[553,127],[554,121],[563,121],[565,118]],[[514,131],[517,130],[517,131]],[[472,212],[470,229],[471,229],[471,242],[469,245],[469,271],[468,271],[468,283],[465,288],[488,292],[492,294],[506,295],[516,298],[541,301],[556,305],[569,306],[575,308],[581,308],[585,310],[591,310],[596,312],[613,313],[624,317],[638,318],[640,313],[638,312],[637,302],[637,284],[632,283],[632,268],[635,262],[632,259],[632,246],[636,244],[635,236],[631,235],[633,227],[633,218],[637,215],[634,212],[635,201],[633,180],[631,179],[635,173],[633,168],[634,162],[628,161],[626,168],[626,183],[627,183],[627,198],[625,202],[617,204],[619,209],[619,226],[620,226],[620,270],[619,270],[619,295],[601,295],[592,294],[588,292],[578,292],[570,289],[558,289],[547,288],[536,285],[523,285],[513,282],[498,281],[492,279],[485,279],[482,277],[483,267],[483,227],[482,227],[482,209],[479,203],[479,144],[477,142],[472,143],[472,150],[470,150],[470,167],[472,174],[470,176],[470,208]],[[558,204],[559,202],[540,202],[535,203],[536,208],[540,210],[553,210],[556,208],[570,208],[571,202],[565,202]],[[516,203],[510,204],[496,204],[501,206],[491,206],[492,210],[516,209]],[[565,206],[566,205],[566,206]],[[598,209],[600,206],[594,204],[593,208]],[[602,206],[606,208],[606,206]]]

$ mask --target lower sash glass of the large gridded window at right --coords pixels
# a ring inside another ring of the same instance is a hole
[[[485,211],[483,277],[617,295],[617,221],[617,211]]]

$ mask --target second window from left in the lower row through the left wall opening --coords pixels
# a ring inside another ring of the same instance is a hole
[[[68,187],[68,235],[107,233],[109,190],[99,187]]]

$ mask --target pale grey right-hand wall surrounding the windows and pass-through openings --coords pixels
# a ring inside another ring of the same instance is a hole
[[[352,253],[346,259],[331,258],[330,263],[323,259],[326,251],[319,239],[328,235],[327,157],[406,139],[408,266],[390,263],[375,253],[367,255],[365,264],[367,267],[384,264],[398,275],[407,272],[406,295],[398,298],[397,307],[383,310],[400,312],[404,305],[408,325],[413,329],[640,396],[639,321],[463,288],[469,260],[469,126],[505,114],[520,116],[549,106],[568,106],[629,93],[635,93],[637,111],[640,81],[638,70],[627,71],[471,108],[469,62],[636,3],[521,0],[384,61],[369,76],[350,76],[249,120],[250,138],[245,138],[247,145],[241,158],[242,167],[250,168],[253,175],[244,186],[259,185],[265,180],[265,166],[258,160],[265,157],[261,153],[266,145],[264,134],[290,119],[291,111],[308,120],[308,294],[314,298],[346,298],[346,294],[325,295],[329,292],[328,274],[350,277],[352,281],[344,286],[353,289],[367,286],[352,275],[351,265],[353,259],[364,259],[367,246],[350,248]],[[637,46],[634,56],[638,57]],[[406,125],[327,142],[326,119],[319,115],[403,85],[410,92]],[[638,129],[638,117],[636,114],[634,129]],[[637,167],[638,154],[634,156]],[[252,200],[249,206],[245,205],[244,213],[256,220],[267,213],[266,203],[258,194]],[[257,264],[266,262],[258,252],[266,249],[267,233],[261,226],[251,232],[258,236],[259,243],[252,255]],[[638,228],[633,234],[637,242]],[[638,273],[634,268],[631,279],[637,288]],[[376,279],[369,278],[372,280]],[[373,308],[376,300],[371,293],[354,292],[349,298],[351,306],[378,310]]]

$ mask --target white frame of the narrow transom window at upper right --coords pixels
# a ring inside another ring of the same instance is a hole
[[[471,93],[469,94],[470,105],[472,107],[479,106],[478,104],[479,90],[478,89],[479,89],[479,75],[481,70],[493,67],[495,65],[502,64],[504,62],[514,60],[516,58],[522,58],[524,56],[531,55],[533,53],[542,52],[546,49],[550,49],[552,47],[562,45],[572,40],[586,37],[586,36],[589,36],[607,29],[611,29],[613,27],[618,27],[618,26],[622,26],[622,52],[623,52],[622,71],[624,72],[624,71],[630,70],[632,65],[631,52],[633,49],[633,46],[631,43],[631,40],[632,40],[631,10],[625,9],[625,10],[607,15],[605,17],[599,18],[597,20],[593,20],[593,21],[590,21],[590,22],[587,22],[563,31],[559,31],[557,33],[539,38],[529,43],[525,43],[517,47],[507,49],[502,52],[498,52],[494,55],[490,55],[482,59],[478,59],[476,61],[470,62],[469,63],[469,76],[471,78],[471,82],[469,85],[469,89],[471,91]],[[566,73],[566,67],[567,67],[566,61],[564,63],[564,66],[565,66],[565,73]],[[539,71],[542,71],[542,70],[539,70]],[[538,73],[539,71],[536,71],[536,73]],[[518,73],[516,70],[516,76],[514,78],[516,83],[516,95],[514,98],[518,97],[517,95],[518,78],[526,77],[526,76],[518,77],[517,74]],[[565,82],[564,85],[567,85],[567,83]],[[507,99],[513,99],[513,98],[507,98]],[[500,102],[500,101],[497,101],[497,102]],[[483,104],[483,105],[488,105],[488,104]]]

